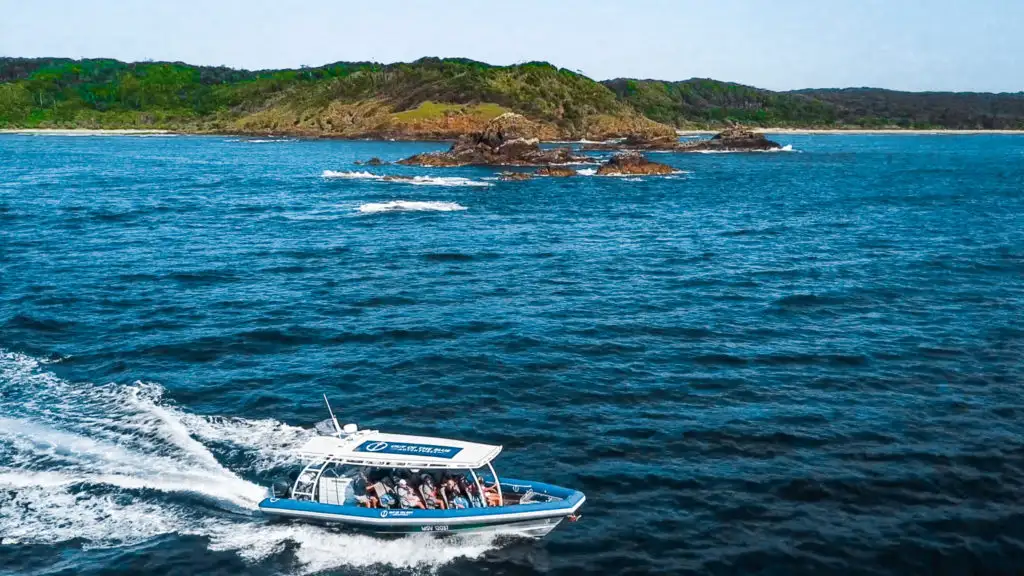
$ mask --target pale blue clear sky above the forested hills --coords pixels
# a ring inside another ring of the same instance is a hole
[[[603,80],[1024,90],[1024,0],[0,0],[0,55],[292,68],[465,56]]]

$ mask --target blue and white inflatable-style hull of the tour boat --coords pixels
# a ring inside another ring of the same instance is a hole
[[[558,500],[486,508],[424,510],[365,508],[266,498],[259,503],[259,507],[263,513],[273,517],[337,524],[383,534],[490,532],[539,537],[554,530],[565,517],[574,515],[587,499],[583,492],[540,482],[507,479],[502,482],[502,488],[506,494],[532,490]]]

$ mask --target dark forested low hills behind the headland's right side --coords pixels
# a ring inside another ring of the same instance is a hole
[[[714,127],[1024,129],[1024,93],[898,92],[878,88],[773,92],[717,80],[603,82],[651,120]]]

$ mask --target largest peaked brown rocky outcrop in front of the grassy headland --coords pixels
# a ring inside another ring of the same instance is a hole
[[[479,133],[459,138],[446,152],[417,154],[398,164],[414,166],[539,166],[586,162],[570,148],[542,149],[536,124],[525,117],[506,113],[495,118]]]

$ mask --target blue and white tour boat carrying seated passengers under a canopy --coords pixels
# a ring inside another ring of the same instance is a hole
[[[269,517],[380,534],[497,533],[539,538],[579,520],[586,496],[542,482],[499,478],[501,446],[317,424],[297,455],[294,483],[259,503]]]

